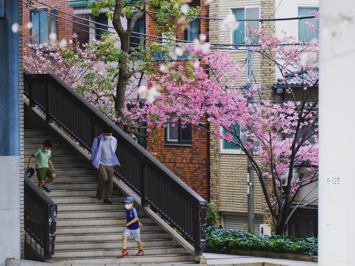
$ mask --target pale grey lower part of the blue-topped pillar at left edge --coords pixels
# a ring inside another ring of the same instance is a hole
[[[20,156],[0,156],[0,266],[20,259]]]

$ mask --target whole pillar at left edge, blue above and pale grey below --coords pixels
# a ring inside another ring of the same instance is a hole
[[[18,4],[0,0],[0,266],[21,254]]]

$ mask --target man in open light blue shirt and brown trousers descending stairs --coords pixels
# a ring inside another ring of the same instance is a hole
[[[112,204],[113,167],[121,166],[115,154],[117,139],[112,136],[112,132],[111,126],[105,126],[104,133],[95,137],[91,146],[91,161],[99,176],[96,198],[102,199],[102,190],[106,184],[104,203],[107,204]]]

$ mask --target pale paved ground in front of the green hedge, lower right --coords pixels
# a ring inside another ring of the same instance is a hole
[[[207,259],[207,264],[242,264],[242,263],[255,263],[255,262],[269,262],[278,265],[287,266],[317,266],[317,262],[307,262],[300,260],[286,260],[286,259],[272,259],[266,257],[253,257],[242,256],[232,254],[216,254],[216,253],[203,253],[203,256]]]

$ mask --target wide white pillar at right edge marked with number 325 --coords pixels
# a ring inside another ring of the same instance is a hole
[[[355,2],[321,0],[320,16],[318,264],[350,266],[355,264]]]

